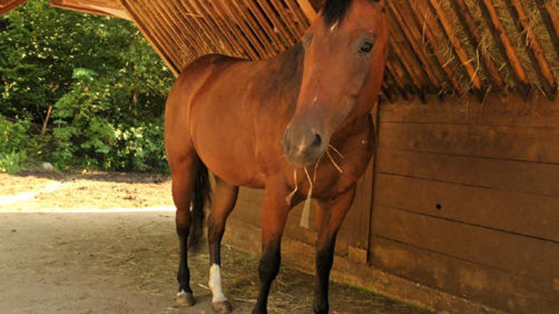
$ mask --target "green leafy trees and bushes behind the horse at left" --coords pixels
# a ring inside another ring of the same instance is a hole
[[[17,149],[28,153],[14,157],[12,144],[0,153],[20,166],[28,157],[59,169],[166,170],[162,114],[173,81],[129,21],[28,1],[0,18],[0,116],[27,125]],[[49,106],[47,132],[37,134]]]

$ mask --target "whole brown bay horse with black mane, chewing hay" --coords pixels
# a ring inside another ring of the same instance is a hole
[[[240,185],[265,189],[253,313],[267,313],[287,215],[311,188],[319,232],[314,312],[328,312],[336,233],[373,153],[371,107],[388,49],[384,6],[384,0],[327,0],[302,43],[286,53],[258,62],[208,55],[181,73],[165,113],[181,244],[179,305],[193,304],[187,247],[201,236],[209,169],[215,176],[208,217],[215,312],[231,311],[221,289],[220,241]]]

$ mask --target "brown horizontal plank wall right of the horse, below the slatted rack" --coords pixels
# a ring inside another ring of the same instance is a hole
[[[559,103],[383,104],[369,259],[512,313],[559,313]]]

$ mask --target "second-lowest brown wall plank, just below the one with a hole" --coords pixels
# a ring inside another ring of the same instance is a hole
[[[559,244],[375,205],[373,234],[428,251],[538,279],[552,289]]]

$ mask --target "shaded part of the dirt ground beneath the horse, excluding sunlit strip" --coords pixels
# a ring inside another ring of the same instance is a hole
[[[0,252],[2,313],[211,313],[206,251],[190,256],[197,305],[174,307],[171,213],[1,214]],[[312,283],[282,268],[270,313],[312,313]],[[224,246],[223,284],[235,313],[250,313],[257,256]],[[339,284],[330,295],[331,313],[427,313]]]

